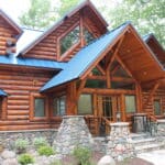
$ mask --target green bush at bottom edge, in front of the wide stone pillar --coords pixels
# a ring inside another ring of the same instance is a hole
[[[90,165],[91,151],[88,147],[77,146],[74,148],[73,155],[77,158],[80,165]]]

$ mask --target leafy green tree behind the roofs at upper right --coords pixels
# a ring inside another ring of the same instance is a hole
[[[130,20],[141,35],[154,33],[165,46],[165,0],[121,0],[116,8],[103,10],[111,28]]]

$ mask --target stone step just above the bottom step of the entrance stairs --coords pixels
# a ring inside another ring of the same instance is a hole
[[[156,139],[154,138],[147,138],[147,139],[138,139],[138,140],[132,140],[132,144],[134,146],[141,146],[141,145],[148,145],[155,143]]]

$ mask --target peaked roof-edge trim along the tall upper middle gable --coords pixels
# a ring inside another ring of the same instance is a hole
[[[45,31],[41,36],[38,36],[35,41],[31,42],[29,45],[26,45],[23,50],[20,51],[19,55],[23,55],[26,52],[29,52],[31,48],[33,48],[36,44],[38,44],[42,40],[44,40],[47,35],[50,35],[53,31],[55,31],[61,24],[64,23],[65,18],[70,18],[76,12],[81,10],[85,7],[89,7],[95,14],[98,16],[99,21],[102,23],[103,26],[108,26],[108,23],[106,20],[101,16],[101,14],[98,12],[98,10],[95,8],[95,6],[90,2],[90,0],[85,0],[79,6],[77,6],[73,11],[65,14],[58,22],[56,22],[52,28],[50,28],[47,31]]]

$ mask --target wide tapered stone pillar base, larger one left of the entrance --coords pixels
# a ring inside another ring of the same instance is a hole
[[[65,116],[58,129],[54,147],[57,154],[70,154],[75,146],[92,148],[94,141],[88,127],[81,116]]]

